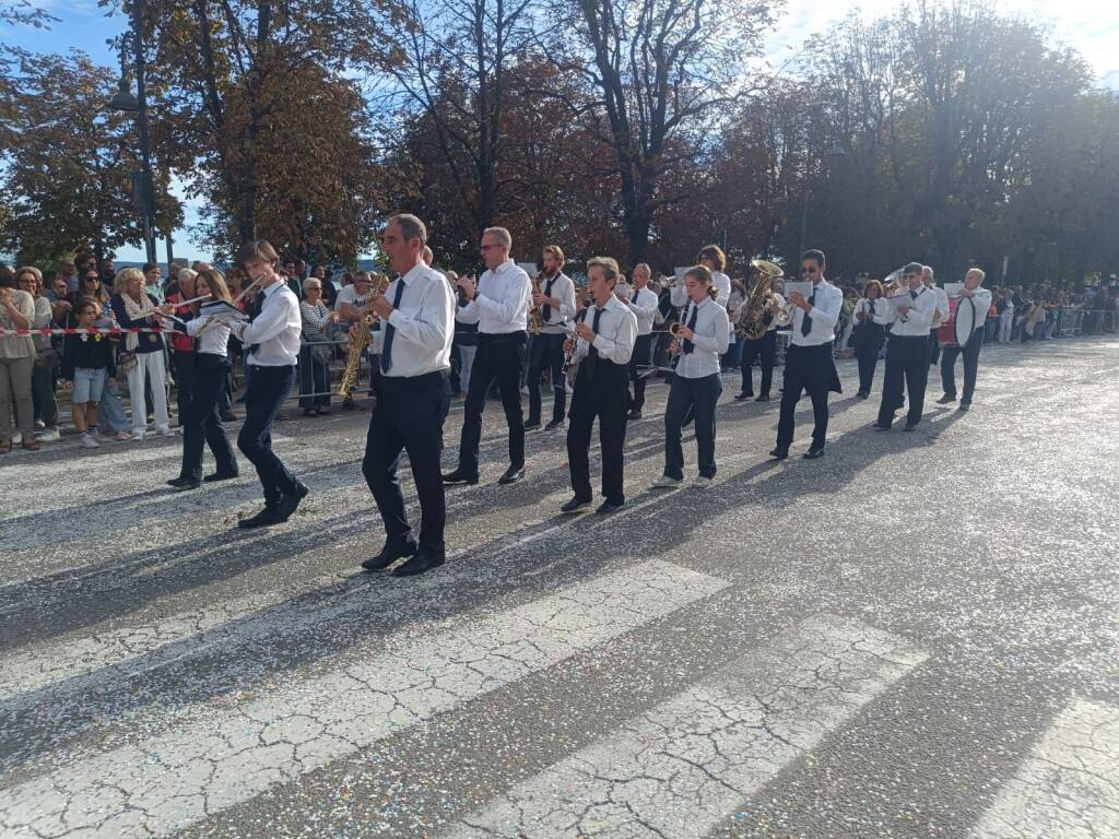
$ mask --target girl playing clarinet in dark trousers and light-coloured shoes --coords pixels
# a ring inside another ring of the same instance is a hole
[[[684,482],[680,432],[692,413],[699,455],[699,477],[693,486],[709,487],[715,478],[715,406],[723,392],[720,358],[731,345],[731,321],[718,304],[720,291],[709,268],[704,265],[688,268],[684,285],[688,305],[680,314],[679,331],[673,341],[679,360],[665,408],[665,473],[652,483],[658,489]]]

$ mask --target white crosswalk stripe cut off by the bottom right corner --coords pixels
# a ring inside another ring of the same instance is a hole
[[[1042,736],[971,839],[1119,836],[1119,708],[1076,699]]]

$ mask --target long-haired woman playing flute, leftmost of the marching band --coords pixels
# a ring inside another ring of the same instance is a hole
[[[209,294],[210,300],[232,302],[225,277],[214,268],[203,268],[195,277],[195,294]],[[173,305],[163,305],[160,312],[169,315]],[[229,445],[229,439],[222,427],[218,403],[229,375],[229,359],[226,355],[229,327],[218,320],[199,314],[199,303],[191,303],[194,314],[186,324],[175,322],[179,329],[197,339],[195,369],[191,378],[190,402],[182,422],[182,465],[179,477],[168,481],[173,489],[192,490],[203,486],[203,444],[208,444],[217,470],[206,475],[206,481],[224,481],[236,478],[237,459]],[[173,322],[173,321],[172,321]]]

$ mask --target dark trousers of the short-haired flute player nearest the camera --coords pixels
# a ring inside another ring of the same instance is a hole
[[[245,424],[237,435],[237,447],[256,468],[264,490],[264,503],[275,506],[281,496],[295,491],[295,475],[272,451],[272,423],[295,381],[295,367],[251,365],[245,390]]]

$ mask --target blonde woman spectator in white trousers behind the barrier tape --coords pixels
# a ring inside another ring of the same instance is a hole
[[[113,283],[113,313],[122,329],[148,329],[160,326],[159,304],[144,292],[144,275],[139,268],[122,268]],[[117,366],[129,379],[129,399],[132,403],[132,434],[143,440],[147,432],[148,405],[144,402],[144,381],[151,380],[151,398],[156,411],[156,430],[160,436],[171,436],[171,421],[167,413],[167,370],[163,367],[163,337],[154,332],[128,332]]]

